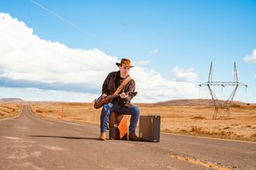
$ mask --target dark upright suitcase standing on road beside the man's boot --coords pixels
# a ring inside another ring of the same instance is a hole
[[[140,138],[143,141],[160,141],[160,123],[158,115],[140,116]]]

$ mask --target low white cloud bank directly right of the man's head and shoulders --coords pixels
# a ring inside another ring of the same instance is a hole
[[[139,91],[136,97],[138,102],[206,97],[205,92],[199,93],[194,83],[166,80],[154,70],[134,67],[131,74]]]

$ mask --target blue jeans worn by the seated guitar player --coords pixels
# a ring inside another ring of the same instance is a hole
[[[135,129],[137,127],[137,123],[140,117],[139,107],[136,107],[136,106],[125,107],[125,106],[119,105],[117,102],[104,104],[102,106],[102,114],[100,115],[100,131],[101,132],[107,131],[107,126],[109,123],[109,115],[112,111],[116,111],[119,114],[131,115],[129,133],[135,132]]]

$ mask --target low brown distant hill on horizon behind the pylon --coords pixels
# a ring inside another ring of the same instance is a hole
[[[225,100],[219,100],[221,103],[225,102]],[[156,105],[161,106],[213,106],[213,100],[211,99],[180,99],[180,100],[168,100],[155,103]],[[232,104],[237,105],[247,105],[247,103],[241,101],[233,101]],[[254,105],[254,104],[252,104]]]

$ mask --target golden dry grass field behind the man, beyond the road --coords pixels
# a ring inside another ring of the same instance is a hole
[[[136,105],[141,115],[161,115],[161,131],[164,132],[256,142],[255,105],[236,104],[230,107],[231,119],[224,120],[213,120],[214,108],[208,105]],[[33,113],[43,117],[99,124],[101,109],[95,110],[90,103],[34,102],[30,106]]]

